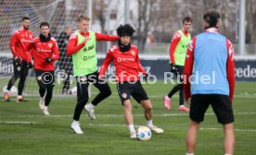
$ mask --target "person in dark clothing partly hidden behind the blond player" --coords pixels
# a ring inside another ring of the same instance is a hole
[[[58,36],[58,49],[59,49],[59,60],[58,66],[59,69],[64,71],[66,74],[62,94],[67,94],[70,89],[70,76],[72,75],[72,58],[67,55],[67,44],[70,39],[70,34],[72,32],[72,28],[70,26],[66,26],[65,30],[62,31]]]

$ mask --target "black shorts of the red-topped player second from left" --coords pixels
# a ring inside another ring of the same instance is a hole
[[[37,83],[40,88],[55,86],[54,71],[34,69]]]

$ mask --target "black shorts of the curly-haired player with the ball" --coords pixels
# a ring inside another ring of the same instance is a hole
[[[143,89],[139,80],[133,83],[129,83],[127,81],[119,82],[117,89],[122,105],[124,101],[130,100],[131,95],[138,103],[148,100],[147,92]]]

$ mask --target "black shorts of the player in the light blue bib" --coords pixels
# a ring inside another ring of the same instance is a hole
[[[234,113],[229,96],[220,94],[192,95],[189,112],[190,119],[198,123],[202,122],[204,113],[210,104],[220,124],[225,125],[234,122]]]

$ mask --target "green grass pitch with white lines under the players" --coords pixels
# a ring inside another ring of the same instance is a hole
[[[94,88],[94,87],[93,87]],[[154,125],[164,129],[153,134],[149,141],[129,138],[123,117],[123,107],[115,85],[112,96],[96,107],[96,120],[83,112],[80,120],[83,135],[70,129],[76,97],[54,97],[50,116],[38,107],[38,98],[28,97],[28,102],[0,101],[0,155],[183,155],[186,152],[187,113],[177,111],[178,98],[173,97],[171,111],[163,107],[162,96],[173,88],[162,81],[146,84],[148,96],[154,106]],[[93,89],[93,97],[97,90]],[[142,107],[133,101],[134,125],[146,125]],[[256,83],[240,82],[236,85],[233,104],[236,128],[237,155],[256,152]],[[217,123],[211,108],[198,132],[197,155],[224,154],[223,129]]]

